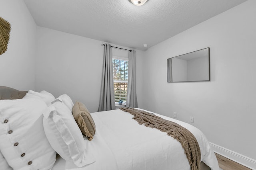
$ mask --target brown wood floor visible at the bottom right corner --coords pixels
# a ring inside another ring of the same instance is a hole
[[[251,170],[250,168],[242,166],[219,154],[216,154],[216,157],[217,157],[220,168],[222,168],[223,170]]]

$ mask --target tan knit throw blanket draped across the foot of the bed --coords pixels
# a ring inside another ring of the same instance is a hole
[[[120,109],[134,115],[132,119],[138,121],[140,125],[144,124],[146,127],[159,129],[179,141],[185,150],[191,170],[200,170],[200,148],[196,138],[188,129],[146,111],[130,107],[121,107]]]

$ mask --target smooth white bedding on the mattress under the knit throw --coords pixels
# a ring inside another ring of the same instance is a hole
[[[59,158],[52,170],[190,170],[184,149],[166,133],[139,125],[132,119],[133,115],[120,109],[91,115],[96,124],[96,133],[92,141],[85,139],[84,143],[96,162],[77,168],[72,162]],[[190,130],[200,146],[201,161],[212,170],[219,170],[216,156],[199,129],[170,117],[156,115]]]

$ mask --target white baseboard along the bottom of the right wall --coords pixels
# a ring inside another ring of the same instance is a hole
[[[232,150],[226,149],[224,147],[221,147],[219,145],[216,145],[214,143],[210,143],[210,146],[212,147],[214,152],[216,152],[217,154],[225,156],[226,158],[233,160],[234,162],[237,162],[252,170],[256,170],[256,160],[249,158],[247,156],[244,156],[242,154],[239,154],[237,152],[234,152]]]

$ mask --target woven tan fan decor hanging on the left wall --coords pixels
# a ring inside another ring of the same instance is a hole
[[[9,42],[11,25],[0,17],[0,55],[6,52]]]

